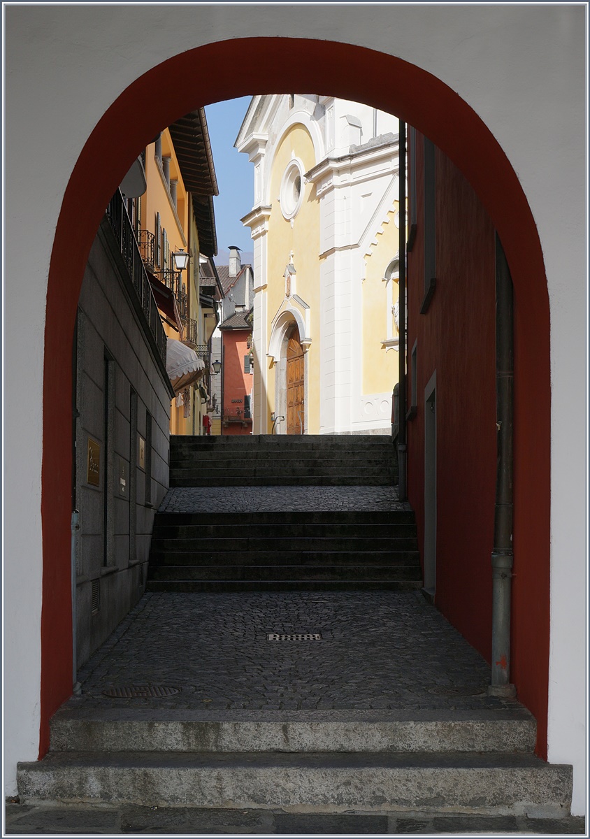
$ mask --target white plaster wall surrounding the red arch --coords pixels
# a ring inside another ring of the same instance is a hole
[[[574,764],[585,807],[586,7],[555,5],[5,6],[6,789],[36,757],[41,593],[44,296],[65,185],[102,113],[133,79],[209,41],[342,40],[438,76],[498,139],[528,197],[551,300],[549,757]],[[198,80],[196,80],[197,83]],[[50,161],[50,163],[49,163]],[[32,233],[33,232],[33,235]],[[27,253],[23,273],[21,254]],[[23,324],[27,341],[18,343]],[[23,392],[26,370],[26,405]],[[23,586],[26,581],[26,586]]]

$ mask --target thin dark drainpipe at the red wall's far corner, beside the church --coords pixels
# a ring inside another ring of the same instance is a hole
[[[405,440],[405,122],[399,121],[399,501],[407,501]]]

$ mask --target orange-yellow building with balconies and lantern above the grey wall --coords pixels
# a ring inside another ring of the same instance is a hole
[[[173,381],[170,434],[199,435],[208,395],[206,345],[216,323],[214,304],[201,299],[200,265],[217,253],[212,196],[218,193],[204,109],[165,128],[145,150],[144,169],[146,189],[130,207],[133,227],[166,337],[184,347],[169,343],[169,356],[187,371]]]

